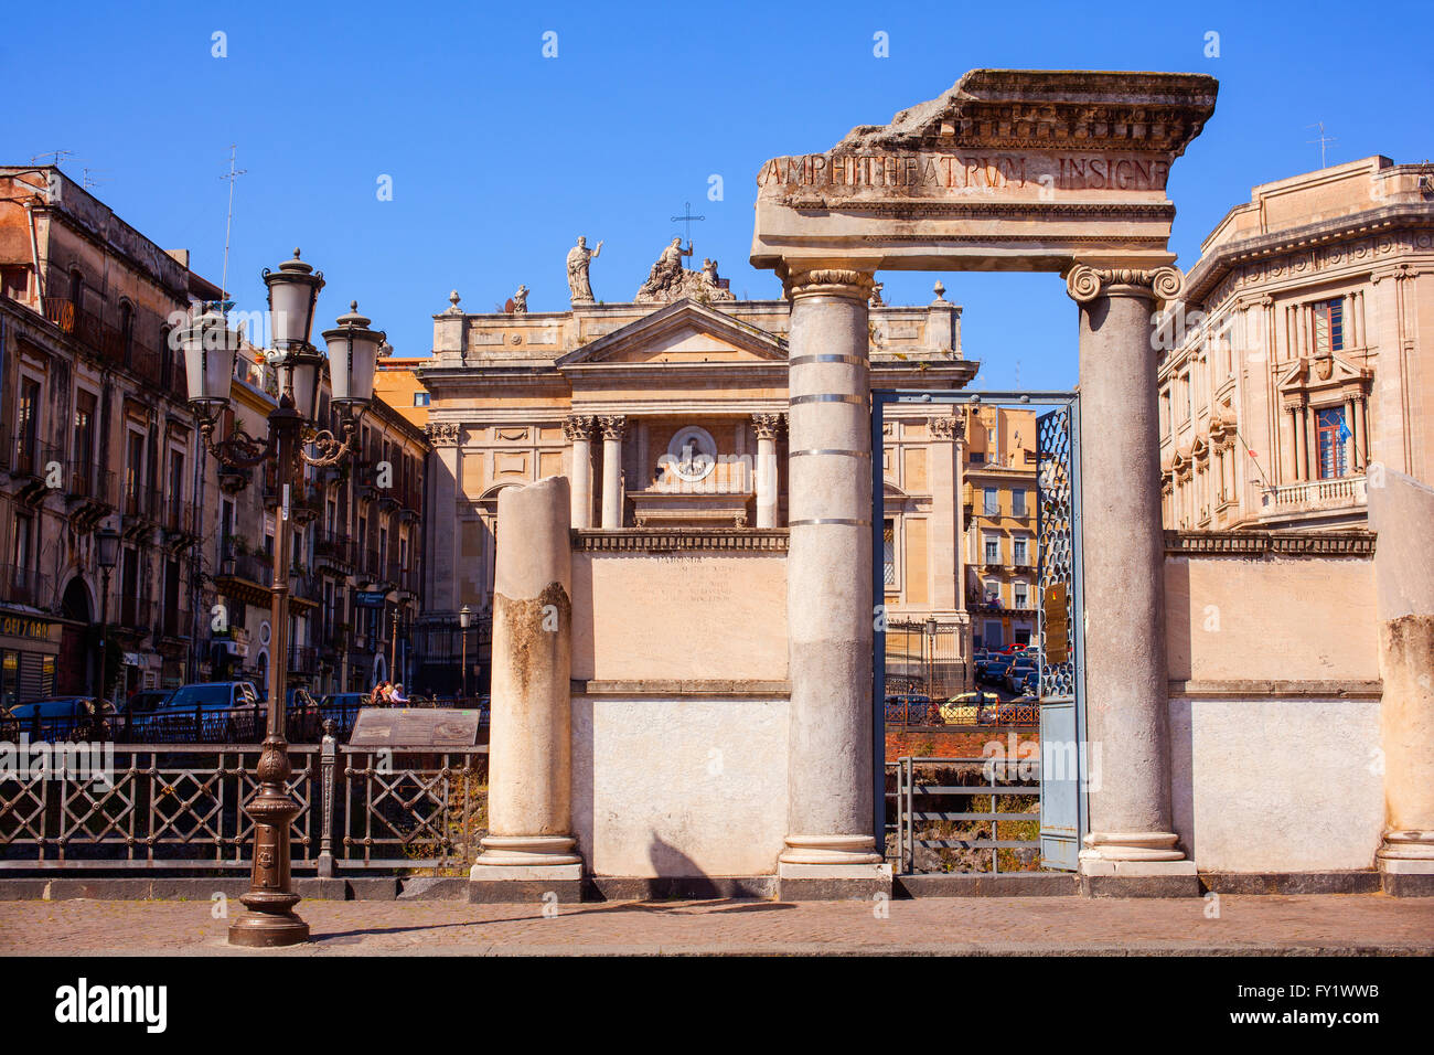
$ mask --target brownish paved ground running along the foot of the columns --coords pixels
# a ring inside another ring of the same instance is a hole
[[[305,946],[265,955],[1434,955],[1434,899],[971,897],[872,903],[304,901]],[[229,911],[241,906],[232,899]],[[209,901],[0,901],[6,955],[235,955]]]

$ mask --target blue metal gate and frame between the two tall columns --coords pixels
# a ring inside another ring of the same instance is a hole
[[[1045,868],[1074,870],[1080,853],[1080,840],[1088,825],[1086,804],[1086,702],[1084,702],[1084,657],[1083,626],[1084,611],[1081,597],[1081,512],[1080,512],[1080,402],[1073,392],[872,392],[872,524],[883,522],[885,474],[880,458],[883,436],[883,408],[888,403],[923,403],[936,406],[1047,406],[1053,408],[1037,418],[1037,472],[1035,472],[1035,537],[1037,537],[1037,640],[1041,649],[1040,667],[1040,850]],[[954,501],[961,501],[959,495]],[[880,531],[873,531],[872,571],[873,599],[880,604],[883,596],[883,547]],[[964,531],[961,533],[964,537]],[[961,543],[958,543],[961,544]],[[961,584],[961,596],[965,583]],[[872,731],[873,731],[873,810],[875,831],[896,837],[899,864],[911,868],[915,845],[928,841],[916,838],[918,820],[958,820],[972,817],[968,812],[931,812],[938,805],[932,797],[969,795],[978,788],[939,787],[922,782],[913,768],[916,764],[967,764],[982,759],[901,759],[895,765],[896,787],[888,789],[886,765],[886,662],[888,624],[885,610],[875,622],[875,655],[872,665]],[[1005,778],[999,787],[987,794],[1020,794]],[[1027,789],[1028,794],[1028,789]],[[926,797],[926,805],[915,801]],[[995,797],[991,798],[991,812],[997,812]],[[888,815],[891,814],[891,815]],[[999,820],[1020,821],[1024,814],[1002,814]],[[994,825],[992,825],[994,828]],[[992,843],[982,847],[1017,847],[1018,843],[997,841],[999,833],[992,830]],[[941,841],[931,845],[944,845]],[[994,868],[994,864],[992,864]]]

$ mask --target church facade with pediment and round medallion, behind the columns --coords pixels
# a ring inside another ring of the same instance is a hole
[[[720,281],[714,266],[706,280],[691,276],[670,280],[673,296]],[[647,296],[657,286],[650,277]],[[787,301],[684,296],[522,314],[469,314],[452,301],[435,317],[432,360],[416,367],[436,448],[430,619],[450,622],[465,604],[490,613],[498,495],[543,477],[572,481],[572,527],[588,547],[784,550]],[[978,365],[961,355],[959,316],[942,291],[923,307],[873,306],[872,386],[967,385]],[[888,614],[956,629],[958,660],[969,653],[961,436],[949,411],[888,411]]]

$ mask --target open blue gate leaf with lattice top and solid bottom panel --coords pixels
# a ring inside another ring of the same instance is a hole
[[[1077,864],[1086,812],[1078,435],[1076,399],[1035,423],[1041,864],[1067,870]]]

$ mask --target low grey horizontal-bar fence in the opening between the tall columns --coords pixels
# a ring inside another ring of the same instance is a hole
[[[939,779],[958,782],[944,784]],[[1030,863],[1040,860],[1040,794],[1037,758],[898,759],[893,798],[896,860],[902,874],[1030,871]],[[1037,800],[1034,812],[1025,804],[1020,804],[1021,808],[1017,810],[1001,808],[1002,800],[1011,802],[1031,797]],[[981,808],[982,804],[974,800],[985,800],[987,808]],[[1015,833],[1012,827],[1017,828]],[[921,848],[934,851],[935,857],[928,854],[918,860],[916,851]],[[1007,851],[1004,868],[1002,850]],[[979,867],[987,864],[989,867]]]

